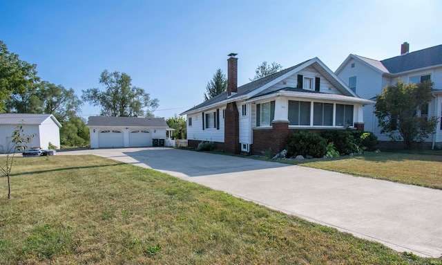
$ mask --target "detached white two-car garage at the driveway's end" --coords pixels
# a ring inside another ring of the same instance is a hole
[[[167,146],[164,118],[90,116],[90,148]]]

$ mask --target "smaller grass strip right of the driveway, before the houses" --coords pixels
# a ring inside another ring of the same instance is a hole
[[[259,159],[442,190],[441,150],[368,152],[362,155],[326,159],[274,160],[262,157]]]

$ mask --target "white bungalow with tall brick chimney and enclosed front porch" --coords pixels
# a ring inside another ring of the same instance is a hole
[[[228,61],[227,92],[184,111],[189,146],[212,141],[224,152],[273,154],[298,129],[364,128],[359,98],[317,57],[237,87],[238,58]]]

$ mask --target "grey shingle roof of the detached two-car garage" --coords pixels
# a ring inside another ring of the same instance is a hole
[[[164,118],[90,116],[88,126],[169,127]]]

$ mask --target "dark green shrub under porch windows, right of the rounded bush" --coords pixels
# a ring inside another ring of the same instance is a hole
[[[327,130],[323,132],[323,138],[327,143],[333,143],[336,151],[341,155],[358,151],[357,141],[351,131],[348,130]]]

